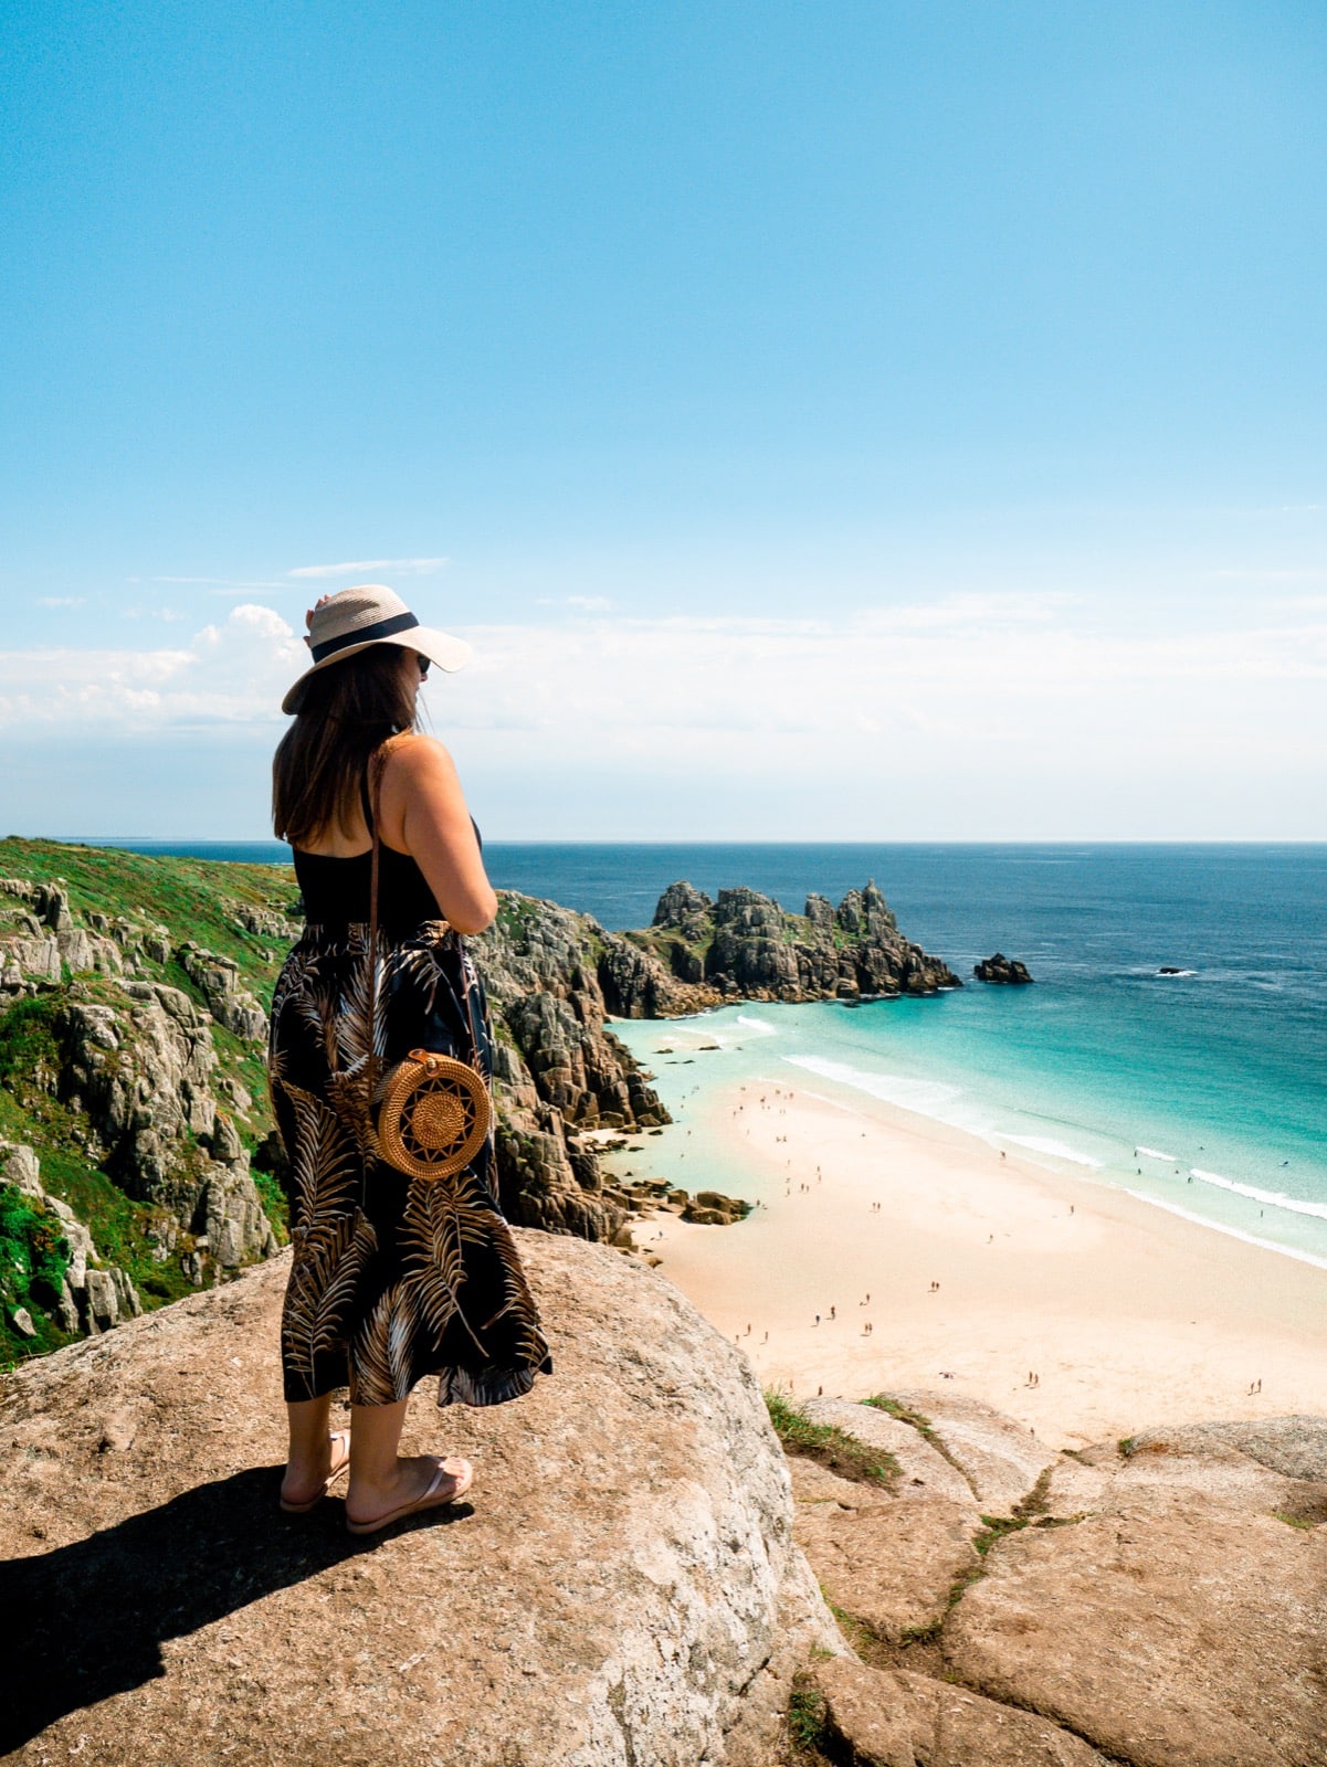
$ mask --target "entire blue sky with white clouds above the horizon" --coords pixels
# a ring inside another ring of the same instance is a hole
[[[1320,838],[1327,12],[12,0],[0,832],[265,832],[392,583],[505,838]]]

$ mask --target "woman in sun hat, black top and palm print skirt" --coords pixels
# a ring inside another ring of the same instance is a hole
[[[295,848],[306,914],[269,1043],[292,1173],[281,1507],[313,1509],[348,1467],[346,1523],[373,1534],[456,1502],[474,1475],[459,1458],[398,1454],[415,1382],[438,1375],[438,1405],[498,1405],[551,1362],[493,1200],[491,1134],[465,1172],[419,1180],[380,1157],[369,1115],[371,1074],[412,1048],[491,1076],[482,986],[458,935],[489,926],[497,896],[451,756],[415,732],[429,663],[456,670],[468,650],[375,585],[323,597],[306,641],[313,666],[283,701],[295,723],[272,765],[274,823]],[[352,1428],[330,1435],[345,1385]]]

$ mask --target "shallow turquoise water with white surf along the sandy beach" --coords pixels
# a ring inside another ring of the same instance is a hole
[[[1219,1064],[1173,1046],[1163,1069],[1120,1021],[1069,1020],[1062,1002],[1041,1007],[1032,990],[965,990],[855,1009],[721,1007],[668,1028],[617,1023],[679,1122],[645,1143],[648,1159],[624,1164],[754,1200],[769,1180],[730,1140],[716,1150],[723,1126],[712,1106],[728,1085],[786,1085],[917,1111],[1327,1269],[1322,1122],[1304,1099],[1232,1088]],[[1182,1094],[1166,1078],[1180,1067]]]

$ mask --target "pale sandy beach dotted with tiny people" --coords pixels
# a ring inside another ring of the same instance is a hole
[[[747,1085],[712,1120],[769,1200],[634,1237],[765,1385],[970,1394],[1057,1447],[1327,1414],[1327,1270],[875,1101]]]

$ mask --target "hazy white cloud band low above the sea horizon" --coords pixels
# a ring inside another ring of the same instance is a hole
[[[1272,838],[1323,797],[1313,606],[1202,631],[1037,595],[841,618],[550,610],[461,636],[472,668],[431,677],[426,703],[507,834]],[[276,733],[306,663],[258,604],[173,648],[7,652],[0,728]],[[666,830],[656,793],[682,806]]]

